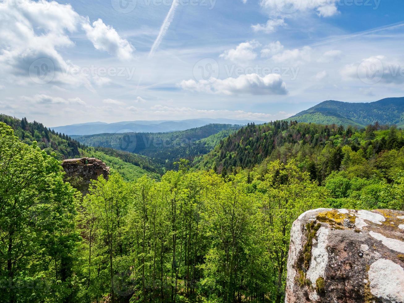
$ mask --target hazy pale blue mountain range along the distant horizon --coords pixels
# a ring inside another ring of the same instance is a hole
[[[66,126],[51,127],[58,133],[66,135],[95,135],[104,133],[166,133],[180,130],[187,130],[205,126],[207,124],[237,124],[247,125],[254,122],[263,124],[259,120],[234,120],[234,119],[189,119],[189,120],[137,120],[116,123],[90,122],[83,124],[72,124]]]

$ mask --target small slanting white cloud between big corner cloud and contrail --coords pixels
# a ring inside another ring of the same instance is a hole
[[[122,39],[112,26],[105,25],[101,19],[94,21],[93,25],[89,21],[84,22],[82,28],[97,50],[104,50],[120,60],[132,58],[135,48],[128,40]]]

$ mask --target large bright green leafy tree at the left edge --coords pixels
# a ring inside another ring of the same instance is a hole
[[[0,123],[0,279],[9,285],[5,300],[25,301],[29,281],[43,288],[29,295],[32,301],[51,294],[55,301],[63,300],[72,292],[71,261],[79,238],[74,233],[75,191],[63,182],[63,174],[59,161],[35,144],[22,143]],[[21,289],[13,286],[20,283]]]

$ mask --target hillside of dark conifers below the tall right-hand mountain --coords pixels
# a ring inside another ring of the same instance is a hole
[[[264,160],[288,162],[295,159],[311,178],[322,182],[339,171],[356,152],[369,166],[358,169],[367,176],[374,159],[385,150],[404,146],[404,132],[396,127],[375,124],[364,130],[337,125],[276,121],[263,125],[249,124],[223,140],[210,154],[196,159],[196,167],[218,173],[252,169]],[[356,158],[356,157],[355,157]]]

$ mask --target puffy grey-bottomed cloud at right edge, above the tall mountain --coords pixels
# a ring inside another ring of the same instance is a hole
[[[389,60],[385,56],[375,56],[345,65],[340,74],[343,80],[360,79],[366,84],[404,83],[404,64]]]

